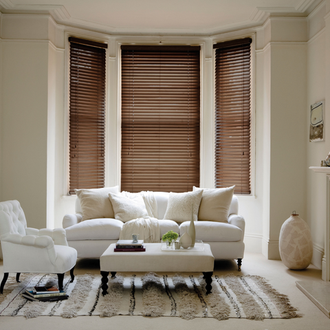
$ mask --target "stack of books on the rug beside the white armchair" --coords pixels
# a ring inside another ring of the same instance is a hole
[[[66,292],[57,287],[36,286],[31,289],[25,289],[22,297],[31,301],[58,301],[69,298]]]

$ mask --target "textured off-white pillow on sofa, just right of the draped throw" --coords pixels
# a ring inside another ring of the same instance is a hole
[[[194,221],[198,220],[198,209],[203,190],[190,192],[170,192],[164,219],[177,223],[190,221],[193,214]]]

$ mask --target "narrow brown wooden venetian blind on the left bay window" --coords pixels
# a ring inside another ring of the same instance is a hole
[[[104,187],[105,48],[69,38],[69,193]]]

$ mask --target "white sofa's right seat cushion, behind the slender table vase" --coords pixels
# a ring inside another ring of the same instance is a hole
[[[181,223],[180,236],[188,232],[190,221]],[[236,225],[214,221],[195,222],[196,239],[206,242],[236,242],[243,239],[243,232]]]

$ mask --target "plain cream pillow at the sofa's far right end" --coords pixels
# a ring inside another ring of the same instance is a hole
[[[235,186],[214,189],[194,187],[194,191],[203,191],[198,219],[202,221],[228,222],[234,188]]]

